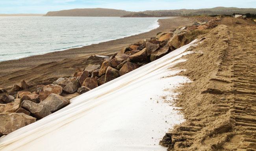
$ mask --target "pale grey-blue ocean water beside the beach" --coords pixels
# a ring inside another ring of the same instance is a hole
[[[144,33],[159,27],[158,19],[0,17],[0,62]]]

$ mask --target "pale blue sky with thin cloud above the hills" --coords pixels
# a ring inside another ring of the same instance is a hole
[[[112,8],[126,11],[256,8],[256,0],[0,0],[0,14],[39,13],[74,8]]]

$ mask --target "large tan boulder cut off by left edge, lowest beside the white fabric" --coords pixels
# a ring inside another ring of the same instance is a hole
[[[35,122],[36,118],[24,113],[0,113],[0,135],[7,135]]]

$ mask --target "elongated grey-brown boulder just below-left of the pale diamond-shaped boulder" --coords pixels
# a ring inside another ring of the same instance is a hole
[[[52,114],[45,106],[36,104],[30,100],[24,100],[21,103],[21,107],[30,111],[31,115],[37,119],[41,119]]]

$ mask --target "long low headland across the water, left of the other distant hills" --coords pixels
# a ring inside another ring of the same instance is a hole
[[[69,9],[62,11],[49,11],[44,16],[123,16],[133,12],[119,9],[106,8],[85,8],[85,9]]]

